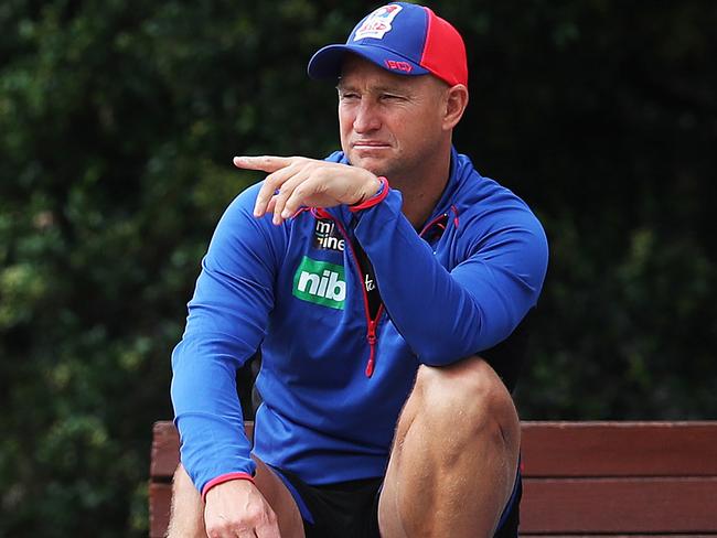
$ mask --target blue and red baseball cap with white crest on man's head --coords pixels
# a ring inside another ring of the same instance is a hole
[[[424,6],[395,2],[366,15],[344,45],[327,45],[309,61],[309,76],[341,75],[353,53],[398,75],[431,74],[450,86],[468,86],[465,45],[458,31]]]

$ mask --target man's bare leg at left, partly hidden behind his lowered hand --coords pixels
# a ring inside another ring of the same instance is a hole
[[[303,538],[303,523],[291,493],[270,467],[254,459],[257,469],[254,482],[277,515],[282,538]],[[174,473],[172,514],[169,538],[206,538],[204,530],[204,503],[180,464]]]

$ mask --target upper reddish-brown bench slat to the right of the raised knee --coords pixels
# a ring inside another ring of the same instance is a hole
[[[525,476],[717,476],[717,421],[523,422]]]

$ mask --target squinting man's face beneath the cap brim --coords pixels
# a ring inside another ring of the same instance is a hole
[[[351,164],[405,180],[426,169],[443,140],[448,86],[402,76],[349,55],[339,82],[341,147]]]

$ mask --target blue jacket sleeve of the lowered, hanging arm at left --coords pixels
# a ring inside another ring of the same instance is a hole
[[[255,471],[236,370],[264,337],[279,259],[265,219],[252,216],[257,189],[239,195],[220,220],[172,354],[181,460],[200,491],[217,476]]]

